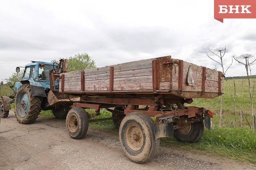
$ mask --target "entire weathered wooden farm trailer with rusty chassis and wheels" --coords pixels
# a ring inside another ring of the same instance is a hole
[[[134,162],[151,160],[160,137],[200,140],[204,127],[210,129],[213,114],[184,104],[191,104],[193,98],[210,99],[223,93],[222,72],[171,56],[65,71],[63,61],[57,72],[50,72],[48,103],[70,108],[66,117],[69,135],[84,137],[89,122],[112,119],[119,128],[123,151]],[[95,114],[88,114],[86,108],[95,109]],[[112,112],[112,117],[90,119],[98,116],[101,108]],[[155,117],[154,121],[150,117]]]

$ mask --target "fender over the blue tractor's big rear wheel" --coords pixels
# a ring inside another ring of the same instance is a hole
[[[30,84],[32,90],[32,96],[40,96],[40,97],[47,97],[44,87],[40,82],[31,81],[31,80],[24,80],[21,81],[22,84]]]

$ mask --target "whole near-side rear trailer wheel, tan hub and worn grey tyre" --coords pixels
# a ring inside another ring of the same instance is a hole
[[[125,155],[133,162],[150,161],[159,148],[155,140],[154,122],[142,113],[133,112],[124,117],[119,128],[119,140]]]

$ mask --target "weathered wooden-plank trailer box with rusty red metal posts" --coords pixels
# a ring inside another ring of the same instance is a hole
[[[166,97],[214,98],[223,93],[222,72],[171,56],[60,74],[59,92],[112,96],[165,94]]]

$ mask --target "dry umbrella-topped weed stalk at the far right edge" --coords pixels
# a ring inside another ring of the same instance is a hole
[[[247,74],[247,78],[248,78],[248,84],[249,84],[249,94],[250,94],[250,100],[251,100],[251,119],[252,119],[252,125],[251,125],[251,129],[255,129],[255,114],[253,112],[253,94],[251,93],[251,79],[249,78],[249,68],[250,66],[253,64],[254,61],[256,61],[256,59],[254,60],[254,56],[251,54],[243,54],[239,57],[235,57],[234,56],[235,61],[238,61],[238,63],[244,65],[246,67],[246,74]],[[253,61],[250,61],[250,59],[253,59]],[[245,63],[242,62],[242,60],[245,60]],[[251,71],[251,69],[250,69]]]

